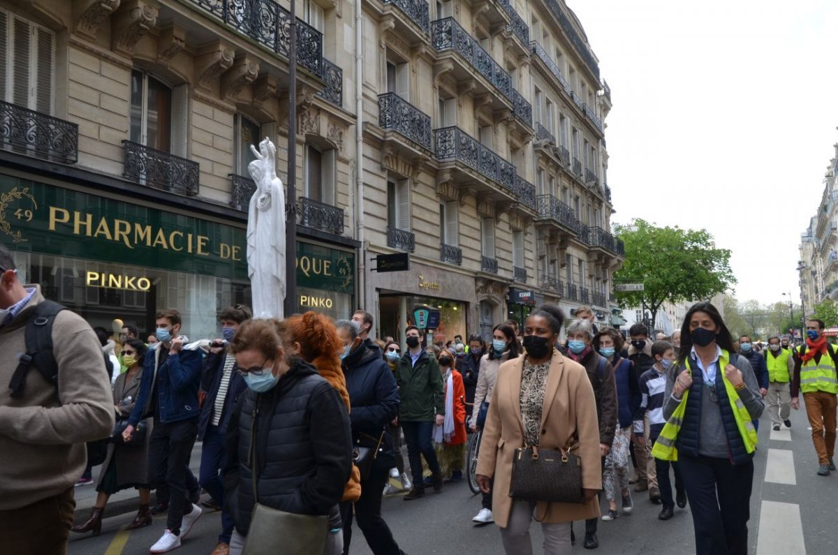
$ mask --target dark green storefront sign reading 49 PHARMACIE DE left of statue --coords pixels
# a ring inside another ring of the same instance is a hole
[[[176,272],[200,266],[199,273],[246,280],[245,235],[240,227],[0,175],[0,237],[17,250]]]

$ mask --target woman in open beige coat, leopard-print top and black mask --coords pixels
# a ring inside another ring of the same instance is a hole
[[[544,552],[571,552],[571,522],[599,516],[602,489],[597,405],[585,369],[554,348],[564,315],[552,305],[526,319],[527,354],[500,366],[481,439],[478,484],[494,488],[492,512],[510,555],[532,552],[530,522],[541,522]],[[530,503],[510,497],[515,449],[538,445],[560,449],[578,439],[585,502]],[[494,479],[494,485],[491,480]]]

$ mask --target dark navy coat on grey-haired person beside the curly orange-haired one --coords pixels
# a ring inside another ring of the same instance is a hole
[[[381,450],[375,458],[373,472],[396,466],[393,456],[393,441],[387,432],[389,425],[399,413],[399,391],[396,378],[390,366],[381,358],[381,350],[375,345],[370,349],[362,343],[344,358],[346,390],[349,392],[349,422],[352,424],[352,440],[360,435],[379,438],[385,431]],[[365,438],[369,441],[369,438]],[[364,443],[366,445],[366,443]]]

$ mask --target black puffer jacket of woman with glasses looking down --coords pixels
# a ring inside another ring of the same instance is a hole
[[[225,502],[247,535],[253,496],[251,426],[256,418],[256,488],[261,504],[301,515],[328,515],[352,469],[349,415],[334,388],[299,362],[271,391],[241,395],[227,430]]]

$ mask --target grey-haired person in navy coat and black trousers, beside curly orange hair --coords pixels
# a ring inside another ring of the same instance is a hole
[[[349,422],[352,425],[352,442],[355,445],[376,449],[370,474],[361,476],[361,496],[352,503],[340,504],[344,521],[344,553],[349,553],[352,541],[352,521],[358,522],[370,550],[376,555],[398,554],[396,540],[387,523],[381,518],[381,496],[389,470],[396,463],[393,443],[388,432],[390,423],[399,410],[399,392],[396,379],[378,350],[370,349],[359,336],[360,326],[352,320],[335,322],[344,349],[341,362],[349,392]],[[354,511],[353,511],[354,508]]]

